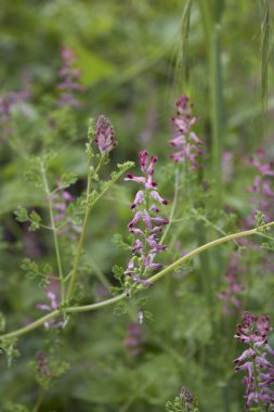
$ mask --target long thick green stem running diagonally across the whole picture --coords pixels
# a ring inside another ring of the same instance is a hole
[[[168,273],[174,271],[175,269],[178,269],[185,261],[187,261],[187,260],[194,258],[195,256],[199,255],[200,253],[203,253],[205,250],[208,250],[211,247],[218,246],[218,245],[220,245],[222,243],[226,243],[226,242],[233,241],[235,239],[239,239],[239,237],[250,236],[252,234],[263,235],[264,233],[262,233],[261,231],[263,229],[270,228],[272,226],[274,226],[274,221],[270,222],[268,224],[264,224],[263,227],[260,227],[260,230],[258,230],[256,228],[256,229],[251,229],[251,230],[247,230],[247,231],[230,234],[229,236],[220,237],[220,239],[218,239],[216,241],[209,242],[206,245],[203,245],[203,246],[196,248],[195,250],[190,252],[187,255],[183,256],[182,258],[178,259],[177,261],[174,261],[173,263],[171,263],[167,268],[162,269],[159,273],[151,276],[148,279],[148,281],[153,282],[153,283],[156,283],[159,279],[161,279],[162,276],[165,276],[166,274],[168,274]],[[143,289],[146,286],[141,285],[139,289]],[[77,313],[77,312],[86,312],[86,311],[90,311],[90,310],[95,310],[95,309],[104,308],[106,306],[113,305],[113,304],[115,304],[115,302],[123,299],[125,297],[127,297],[127,294],[122,293],[121,295],[115,296],[115,297],[113,297],[110,299],[107,299],[107,300],[104,300],[104,301],[101,301],[101,302],[97,302],[97,304],[68,307],[66,309],[66,312],[67,313]],[[49,313],[49,314],[47,314],[47,316],[38,319],[37,321],[28,324],[27,326],[21,327],[21,329],[14,331],[14,332],[10,332],[10,333],[4,334],[4,335],[0,335],[0,340],[4,339],[4,338],[16,337],[16,336],[23,335],[23,334],[25,334],[25,333],[27,333],[29,331],[32,331],[32,330],[37,329],[38,326],[42,325],[44,322],[47,322],[47,321],[49,321],[51,319],[56,318],[60,314],[62,314],[61,310],[54,310],[53,312],[51,312],[51,313]]]

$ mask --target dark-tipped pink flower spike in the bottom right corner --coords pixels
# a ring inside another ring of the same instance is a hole
[[[274,407],[274,364],[268,356],[274,356],[274,350],[268,345],[268,336],[271,332],[269,317],[257,317],[244,312],[243,323],[237,325],[235,337],[248,345],[237,359],[235,359],[235,371],[245,371],[246,384],[246,409],[255,404]],[[270,409],[268,409],[270,410]],[[272,410],[272,409],[271,409]]]

